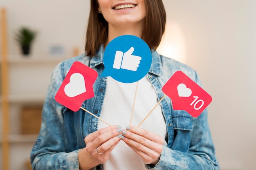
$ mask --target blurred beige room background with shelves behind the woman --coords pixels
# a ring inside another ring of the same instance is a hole
[[[221,170],[255,170],[256,1],[163,2],[166,33],[157,51],[195,69],[213,97],[208,119]],[[26,170],[38,131],[32,122],[40,121],[52,69],[84,51],[90,1],[1,0],[0,8],[6,10],[7,28],[7,55],[1,49],[7,61],[1,59],[0,169]],[[37,32],[29,55],[22,55],[16,41],[22,26]]]

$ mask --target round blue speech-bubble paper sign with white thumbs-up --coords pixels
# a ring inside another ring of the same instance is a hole
[[[152,55],[148,44],[134,35],[119,36],[106,46],[101,77],[111,76],[123,83],[142,79],[149,71]]]

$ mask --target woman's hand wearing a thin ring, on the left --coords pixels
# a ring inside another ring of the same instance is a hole
[[[117,146],[123,130],[115,125],[97,130],[85,137],[86,147],[78,153],[79,169],[89,170],[109,159],[110,152]]]

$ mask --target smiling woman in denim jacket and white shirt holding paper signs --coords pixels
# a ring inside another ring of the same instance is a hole
[[[183,71],[200,84],[191,68],[155,51],[165,22],[161,0],[91,0],[86,53],[61,62],[52,74],[40,134],[31,151],[35,170],[219,169],[207,110],[192,118],[185,111],[173,110],[171,100],[166,97],[137,127],[164,95],[162,86],[173,73]],[[100,77],[104,47],[120,35],[136,35],[152,51],[151,68],[139,80],[134,126],[128,125],[136,83],[124,84],[111,77]],[[86,100],[82,107],[118,125],[107,126],[81,109],[74,113],[54,100],[74,61],[90,66],[99,74],[94,83],[95,97]]]

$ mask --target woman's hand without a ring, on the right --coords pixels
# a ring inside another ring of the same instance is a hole
[[[127,126],[123,141],[145,164],[156,165],[163,150],[164,139],[157,134],[135,126]]]

